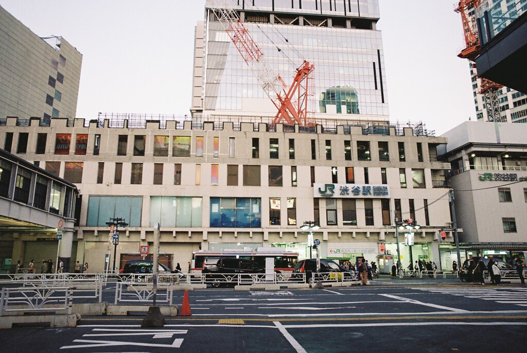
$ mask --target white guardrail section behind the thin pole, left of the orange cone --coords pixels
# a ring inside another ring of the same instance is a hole
[[[152,302],[154,300],[154,291],[145,282],[120,282],[115,288],[114,304],[130,302]],[[163,283],[159,284],[155,292],[156,303],[165,303],[172,305],[173,288],[172,285]]]

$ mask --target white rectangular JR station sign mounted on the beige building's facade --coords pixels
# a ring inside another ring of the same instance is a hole
[[[373,184],[314,184],[315,198],[389,198],[388,185]]]

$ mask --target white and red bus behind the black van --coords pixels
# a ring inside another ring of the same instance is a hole
[[[290,272],[298,261],[298,252],[286,251],[284,248],[225,249],[222,251],[200,250],[192,252],[192,273],[201,273],[206,258],[239,258],[248,259],[266,267],[266,258],[275,259],[275,272]]]

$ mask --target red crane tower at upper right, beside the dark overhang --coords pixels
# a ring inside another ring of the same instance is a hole
[[[472,67],[476,67],[474,59],[479,55],[481,50],[480,37],[477,33],[475,10],[481,4],[482,0],[460,0],[454,5],[454,11],[461,14],[463,22],[463,34],[465,37],[465,48],[457,56],[472,61]],[[477,77],[477,76],[476,76]],[[501,122],[500,104],[497,91],[503,87],[499,83],[477,77],[480,79],[480,90],[477,92],[485,97],[485,105],[489,121]]]

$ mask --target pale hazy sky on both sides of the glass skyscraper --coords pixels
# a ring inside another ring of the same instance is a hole
[[[190,115],[194,27],[205,0],[0,0],[41,37],[83,54],[77,117]],[[379,0],[390,120],[440,135],[475,119],[453,0]]]

